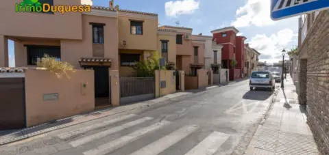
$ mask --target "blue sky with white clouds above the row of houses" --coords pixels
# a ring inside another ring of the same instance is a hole
[[[109,0],[82,0],[108,7]],[[260,61],[280,61],[282,49],[297,46],[297,17],[273,21],[270,0],[114,0],[124,10],[158,14],[159,25],[193,28],[193,34],[234,26],[252,48],[261,53]],[[10,66],[14,47],[9,42]]]

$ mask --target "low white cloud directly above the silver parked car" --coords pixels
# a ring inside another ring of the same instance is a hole
[[[257,34],[249,41],[249,45],[262,54],[260,61],[273,63],[281,59],[282,49],[289,50],[296,39],[297,35],[293,33],[293,30],[282,29],[271,36]]]

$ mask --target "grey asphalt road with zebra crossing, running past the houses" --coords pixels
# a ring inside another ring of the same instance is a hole
[[[272,96],[248,82],[3,145],[0,154],[242,154]]]

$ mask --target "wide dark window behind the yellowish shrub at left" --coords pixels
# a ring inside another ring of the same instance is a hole
[[[48,55],[55,57],[60,61],[60,47],[59,46],[27,46],[27,64],[36,65],[42,57]]]

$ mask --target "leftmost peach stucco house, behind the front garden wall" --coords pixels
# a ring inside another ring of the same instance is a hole
[[[16,67],[36,67],[38,59],[49,55],[69,62],[75,69],[92,69],[95,98],[101,98],[105,104],[118,104],[119,85],[110,83],[119,80],[114,79],[119,74],[118,12],[92,7],[91,12],[66,14],[17,13],[16,2],[19,1],[5,0],[0,6],[1,58],[8,55],[6,42],[10,39],[14,41]],[[53,1],[53,5],[80,3],[80,0]],[[1,59],[0,64],[8,66],[8,59]]]

